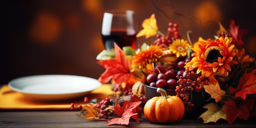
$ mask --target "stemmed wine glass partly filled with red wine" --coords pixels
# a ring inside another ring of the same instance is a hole
[[[136,29],[134,11],[108,10],[104,12],[101,37],[105,49],[114,48],[114,42],[120,47],[131,46],[135,49]]]

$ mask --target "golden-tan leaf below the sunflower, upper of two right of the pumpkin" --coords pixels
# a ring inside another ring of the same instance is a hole
[[[204,90],[209,93],[211,98],[214,98],[217,103],[221,101],[226,94],[226,91],[220,89],[219,83],[216,83],[216,85],[211,83],[209,85],[204,85]]]

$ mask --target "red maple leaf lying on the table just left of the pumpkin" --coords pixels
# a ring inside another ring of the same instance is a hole
[[[129,124],[130,118],[135,119],[137,123],[139,123],[138,113],[133,112],[133,109],[136,109],[137,106],[141,104],[141,101],[129,102],[124,101],[123,106],[120,106],[118,102],[116,102],[114,106],[114,113],[119,115],[120,117],[113,118],[108,121],[108,125],[111,124]]]

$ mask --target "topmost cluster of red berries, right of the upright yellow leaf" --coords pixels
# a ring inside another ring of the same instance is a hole
[[[168,23],[168,33],[166,36],[161,35],[161,34],[156,34],[157,39],[155,40],[156,45],[169,45],[172,43],[173,40],[180,38],[180,34],[178,32],[178,27],[179,25],[173,22]]]

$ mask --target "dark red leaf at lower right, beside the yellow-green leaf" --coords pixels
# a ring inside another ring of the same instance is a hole
[[[227,108],[224,110],[227,112],[227,121],[229,124],[232,124],[237,117],[248,120],[254,100],[242,100],[240,105],[237,105],[235,101],[224,101],[224,103],[227,105]]]

